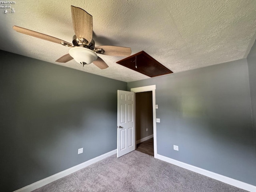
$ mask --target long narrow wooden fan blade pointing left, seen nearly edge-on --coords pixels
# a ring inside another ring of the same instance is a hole
[[[40,39],[43,39],[43,40],[46,40],[46,41],[50,41],[50,42],[54,42],[54,43],[59,43],[59,44],[67,44],[69,46],[73,46],[72,44],[64,41],[64,40],[61,40],[61,39],[58,39],[58,38],[55,38],[55,37],[52,37],[52,36],[49,36],[49,35],[46,35],[46,34],[42,34],[42,33],[39,33],[39,32],[36,32],[36,31],[32,31],[32,30],[29,30],[29,29],[26,29],[26,28],[22,28],[22,27],[18,27],[18,26],[13,26],[12,27],[14,30],[16,30],[17,32],[20,32],[20,33],[23,33],[23,34],[26,34],[26,35],[30,35],[30,36],[33,36],[33,37],[37,37],[37,38],[40,38]]]

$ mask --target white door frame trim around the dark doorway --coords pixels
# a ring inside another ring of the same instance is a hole
[[[154,158],[157,158],[157,147],[156,147],[156,85],[144,86],[131,88],[131,92],[146,92],[152,91],[152,105],[153,105],[153,135],[154,135]],[[135,98],[136,100],[136,98]],[[136,106],[135,106],[136,107]],[[136,126],[135,126],[136,129]],[[136,142],[136,141],[135,141]]]

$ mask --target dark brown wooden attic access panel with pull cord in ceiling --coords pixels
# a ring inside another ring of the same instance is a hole
[[[138,52],[116,63],[149,77],[173,73],[144,51]]]

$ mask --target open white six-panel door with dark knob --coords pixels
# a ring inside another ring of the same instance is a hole
[[[117,157],[135,150],[134,92],[117,91]]]

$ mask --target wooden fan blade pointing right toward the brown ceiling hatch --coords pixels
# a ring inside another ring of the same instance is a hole
[[[132,53],[131,48],[128,47],[117,47],[117,46],[96,46],[95,49],[102,48],[104,55],[111,56],[130,56]]]

